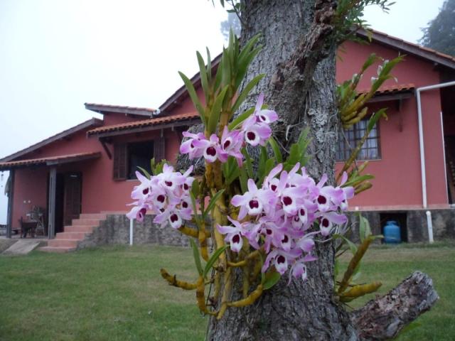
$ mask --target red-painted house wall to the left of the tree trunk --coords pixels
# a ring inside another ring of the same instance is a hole
[[[171,161],[171,163],[175,161],[178,153],[179,142],[176,134],[176,131],[171,131],[171,129],[164,131],[166,159]],[[160,131],[149,131],[147,133],[119,136],[114,141],[146,141],[156,139],[159,136]],[[108,148],[112,152],[112,145],[108,145]],[[97,138],[87,139],[86,131],[74,134],[68,141],[62,140],[49,144],[41,151],[29,153],[21,159],[94,151],[99,151],[101,157],[96,160],[58,166],[57,172],[82,173],[82,213],[97,213],[101,211],[126,212],[129,210],[129,207],[126,206],[127,203],[132,202],[130,195],[134,185],[137,185],[137,180],[114,181],[112,178],[113,161],[109,160]],[[14,228],[18,227],[18,220],[21,216],[25,218],[26,212],[32,206],[47,207],[46,187],[49,169],[48,167],[40,167],[16,170],[12,220]],[[24,200],[26,200],[26,203],[23,203]],[[28,200],[31,202],[28,203]]]

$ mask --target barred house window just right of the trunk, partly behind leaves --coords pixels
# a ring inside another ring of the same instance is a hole
[[[336,151],[336,161],[348,160],[350,153],[353,151],[358,142],[365,135],[368,119],[363,119],[344,130],[344,136],[340,133],[338,136],[338,150]],[[371,129],[368,138],[360,149],[357,160],[378,160],[380,158],[380,139],[378,124]]]

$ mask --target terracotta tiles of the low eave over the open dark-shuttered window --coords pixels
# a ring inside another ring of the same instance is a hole
[[[185,121],[189,119],[197,119],[199,117],[197,112],[187,114],[177,114],[164,117],[154,117],[153,119],[144,119],[141,121],[128,122],[123,124],[113,124],[111,126],[100,126],[99,128],[87,131],[87,136],[107,133],[110,131],[123,131],[144,126],[160,126],[161,124],[174,123],[178,121]]]

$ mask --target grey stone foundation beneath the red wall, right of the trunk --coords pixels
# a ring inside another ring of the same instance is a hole
[[[433,237],[435,241],[441,239],[455,239],[455,210],[429,210],[432,213]],[[408,210],[408,211],[368,211],[361,212],[363,217],[370,222],[373,234],[381,234],[385,220],[397,220],[393,216],[401,219],[400,227],[405,228],[405,241],[407,242],[427,242],[427,210]],[[353,225],[352,239],[358,241],[358,217],[355,212],[348,213]],[[391,217],[387,219],[387,217]]]

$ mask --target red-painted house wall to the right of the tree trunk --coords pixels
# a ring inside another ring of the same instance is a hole
[[[339,53],[341,60],[337,63],[337,82],[350,79],[358,72],[370,53],[388,60],[398,55],[397,51],[375,43],[360,46],[348,42],[345,49],[349,54]],[[370,86],[370,78],[376,75],[376,67],[371,69],[360,81],[359,90],[366,90]],[[385,85],[413,83],[415,87],[422,87],[439,83],[439,72],[434,70],[432,63],[412,56],[406,56],[405,61],[398,64],[392,73],[398,82],[387,80]],[[367,171],[375,175],[373,188],[351,200],[351,209],[355,206],[363,209],[422,206],[417,102],[412,96],[403,100],[400,112],[397,112],[396,106],[396,102],[382,102],[375,107],[389,107],[388,121],[380,121],[381,159],[370,161]],[[422,93],[422,112],[427,201],[429,206],[447,205],[439,90]],[[341,166],[342,163],[337,163],[337,170]]]

